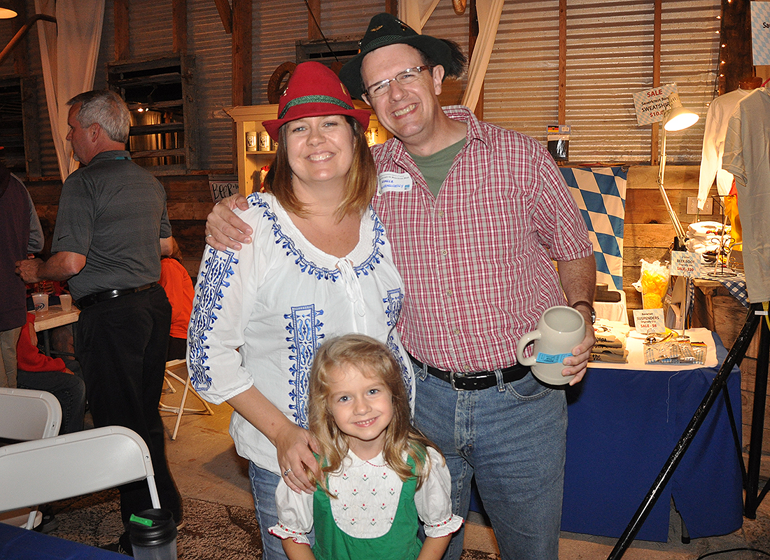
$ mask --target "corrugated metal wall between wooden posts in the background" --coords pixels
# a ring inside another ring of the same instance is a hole
[[[224,32],[211,0],[188,2],[188,51],[196,56],[200,166],[232,166],[232,39]],[[30,2],[31,4],[31,2]],[[322,0],[321,26],[329,39],[360,39],[383,0]],[[28,8],[28,12],[31,8]],[[705,117],[718,69],[719,0],[663,2],[661,84],[676,82],[685,106]],[[28,13],[28,17],[32,15]],[[114,13],[106,2],[95,87],[105,86],[105,65],[114,59]],[[253,0],[253,102],[267,102],[273,71],[295,60],[295,43],[307,39],[303,0]],[[13,24],[0,21],[0,36]],[[38,24],[39,25],[39,24]],[[172,49],[168,2],[129,2],[130,55],[146,59]],[[423,32],[453,39],[467,52],[468,14],[455,15],[440,2]],[[652,87],[653,2],[567,0],[567,124],[572,128],[570,159],[645,163],[651,126],[637,126],[631,94]],[[42,86],[37,34],[27,39],[28,65],[39,80],[42,173],[58,175]],[[13,75],[5,62],[0,75]],[[545,140],[557,121],[558,0],[508,0],[500,19],[487,71],[484,118]],[[442,102],[460,101],[465,79],[444,82]],[[670,163],[697,163],[703,121],[668,136]]]

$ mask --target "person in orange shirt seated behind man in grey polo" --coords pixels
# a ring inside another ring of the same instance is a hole
[[[166,297],[171,303],[171,331],[166,360],[182,360],[187,350],[187,326],[190,322],[195,290],[189,273],[182,266],[182,251],[179,250],[176,240],[173,240],[172,246],[171,254],[160,260],[158,283],[163,290],[166,290]]]

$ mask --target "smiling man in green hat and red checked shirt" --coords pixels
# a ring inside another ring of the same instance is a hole
[[[475,475],[502,557],[556,560],[564,391],[537,381],[515,350],[545,310],[571,305],[587,327],[563,374],[581,380],[594,344],[594,253],[544,146],[440,106],[444,77],[463,64],[457,45],[380,14],[340,79],[395,136],[373,146],[372,203],[406,284],[397,327],[415,367],[415,424],[447,459],[454,512],[467,514]],[[207,241],[237,249],[245,224],[221,206]],[[444,558],[462,548],[458,531]]]

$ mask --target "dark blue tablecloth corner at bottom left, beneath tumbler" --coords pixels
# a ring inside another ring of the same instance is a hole
[[[126,560],[102,548],[65,541],[0,523],[0,558],[3,560]]]

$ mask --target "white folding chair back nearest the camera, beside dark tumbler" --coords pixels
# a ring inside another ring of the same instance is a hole
[[[0,512],[144,479],[160,508],[147,444],[122,426],[23,441],[0,448]]]

